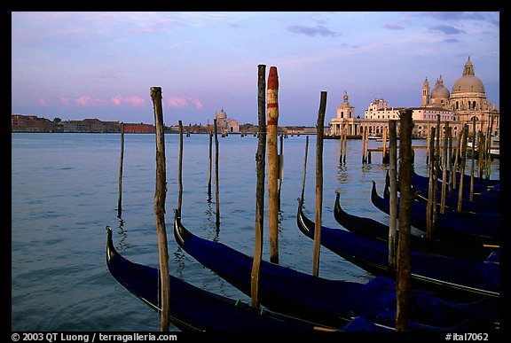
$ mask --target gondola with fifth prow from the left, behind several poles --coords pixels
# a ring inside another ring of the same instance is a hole
[[[388,183],[385,184],[388,191]],[[382,198],[376,191],[376,183],[373,181],[371,202],[374,207],[389,214],[389,198]],[[397,199],[397,204],[399,199]],[[412,226],[426,231],[426,203],[412,201]],[[397,206],[397,208],[399,208]],[[398,212],[398,211],[397,211]],[[460,213],[454,210],[445,210],[443,214],[437,211],[436,238],[448,242],[470,242],[481,245],[499,246],[500,242],[500,214],[499,213]]]

